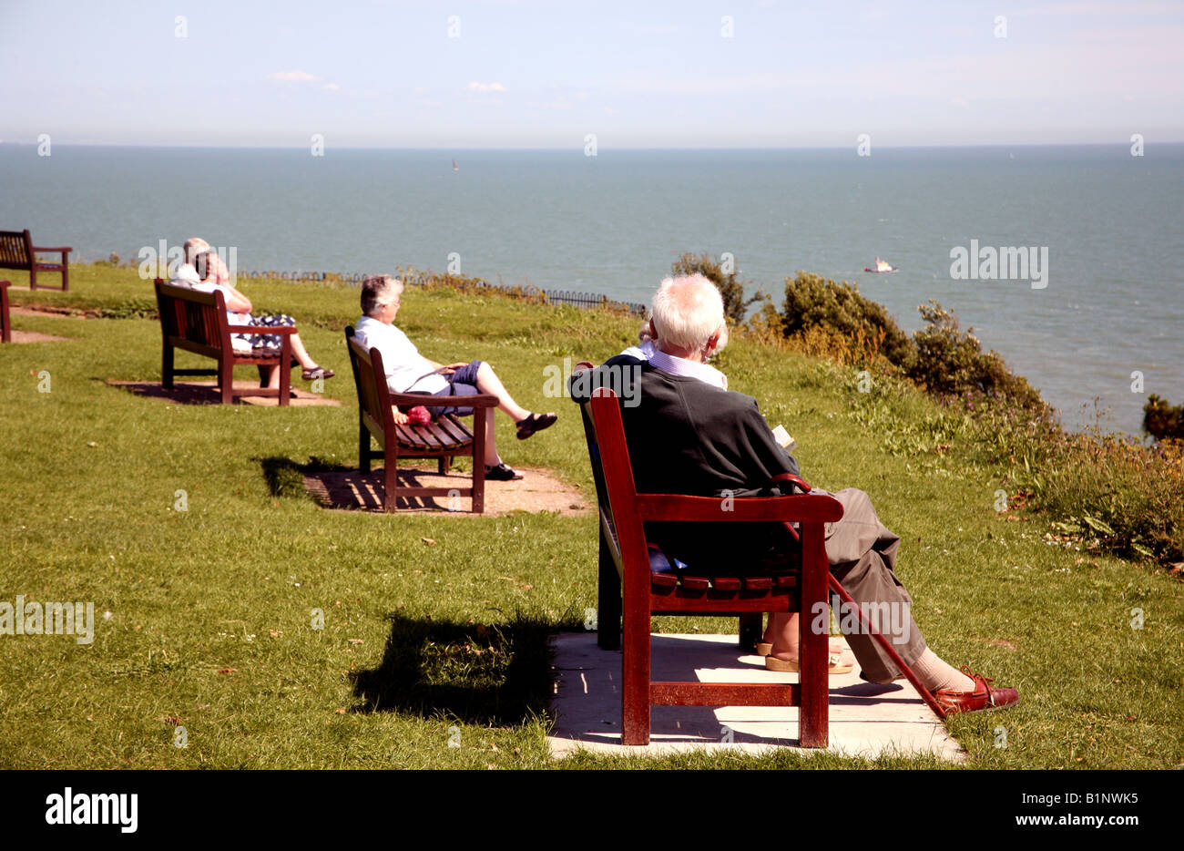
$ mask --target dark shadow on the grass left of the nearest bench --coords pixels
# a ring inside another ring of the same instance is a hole
[[[521,724],[551,697],[553,625],[516,615],[484,626],[391,615],[377,668],[352,674],[355,712],[445,716],[468,724]]]

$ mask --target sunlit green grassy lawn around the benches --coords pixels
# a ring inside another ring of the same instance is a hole
[[[160,379],[160,327],[143,318],[152,286],[134,269],[73,267],[70,293],[11,293],[17,306],[107,318],[20,315],[20,329],[70,339],[0,346],[0,601],[94,601],[96,613],[91,645],[0,635],[0,767],[868,764],[792,754],[552,762],[545,640],[581,629],[596,604],[593,518],[329,512],[269,485],[276,466],[356,463],[341,328],[358,318],[358,290],[243,288],[257,312],[297,318],[313,356],[337,372],[324,390],[341,408],[174,405],[109,386]],[[406,294],[399,325],[427,357],[489,360],[523,405],[560,411],[526,443],[498,416],[498,446],[510,465],[591,491],[578,411],[543,396],[543,367],[603,360],[636,320],[432,290]],[[1014,710],[950,719],[971,767],[1184,763],[1180,582],[1049,543],[1042,518],[997,513],[1002,469],[974,463],[957,437],[941,453],[914,439],[933,412],[925,398],[860,393],[847,371],[745,340],[720,366],[793,434],[807,480],[871,494],[903,539],[897,572],[929,645],[1021,690]],[[995,747],[1000,724],[1005,748]]]

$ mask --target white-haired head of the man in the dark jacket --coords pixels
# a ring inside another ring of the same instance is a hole
[[[728,341],[723,297],[702,275],[664,279],[654,294],[650,324],[657,347],[675,357],[706,360]]]

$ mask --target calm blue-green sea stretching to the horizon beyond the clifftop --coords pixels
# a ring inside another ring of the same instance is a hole
[[[456,156],[459,171],[453,172]],[[0,228],[134,257],[200,235],[240,269],[462,270],[648,301],[683,251],[731,251],[784,292],[857,281],[906,329],[957,309],[1073,427],[1095,397],[1137,431],[1146,392],[1184,401],[1184,146],[854,151],[307,151],[0,145]],[[1045,289],[955,281],[950,250],[1049,249]],[[862,271],[879,255],[901,271]],[[755,289],[755,286],[754,286]]]

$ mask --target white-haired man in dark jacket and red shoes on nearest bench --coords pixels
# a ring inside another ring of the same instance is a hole
[[[707,359],[726,340],[723,302],[715,286],[702,275],[667,279],[654,296],[651,334],[656,348],[649,360],[619,354],[600,367],[601,379],[613,371],[636,375],[639,392],[633,405],[624,405],[622,418],[632,459],[637,490],[693,495],[755,495],[776,493],[771,480],[778,473],[798,473],[797,460],[774,439],[749,396],[729,392]],[[629,367],[624,369],[623,367]],[[590,383],[597,385],[598,379]],[[575,395],[573,386],[573,395]],[[818,491],[816,490],[816,493]],[[825,493],[825,492],[823,492]],[[931,651],[912,619],[912,599],[893,572],[900,538],[879,520],[868,495],[848,488],[834,494],[844,514],[826,525],[826,556],[831,574],[864,612],[892,610],[892,628],[880,626],[921,683],[950,712],[999,709],[1017,703],[1015,689],[996,689],[990,679],[969,668],[954,670]],[[784,527],[770,524],[729,526],[720,536],[713,524],[648,524],[646,538],[675,561],[702,570],[713,563],[755,565],[776,561],[791,546]],[[864,679],[888,683],[903,674],[854,618],[839,618],[839,628],[855,653]],[[811,628],[826,628],[818,618]],[[796,615],[770,615],[766,639],[772,645],[766,665],[797,670]],[[835,657],[832,672],[837,672]],[[841,670],[841,668],[837,668]],[[849,670],[849,668],[848,668]]]

